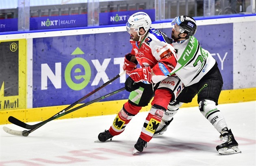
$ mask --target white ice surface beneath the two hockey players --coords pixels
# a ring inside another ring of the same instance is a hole
[[[219,133],[198,110],[181,108],[164,135],[132,155],[148,112],[137,114],[112,141],[97,142],[116,115],[55,120],[30,133],[13,136],[0,125],[0,166],[255,166],[256,101],[221,104],[242,153],[222,156]],[[91,110],[93,111],[93,110]],[[56,110],[56,113],[59,110]],[[29,123],[35,124],[35,123]]]

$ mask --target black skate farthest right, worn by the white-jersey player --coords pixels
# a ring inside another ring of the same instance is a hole
[[[220,155],[231,155],[235,153],[241,153],[238,149],[238,143],[234,139],[234,135],[231,132],[231,129],[228,130],[227,127],[224,127],[221,130],[221,135],[219,136],[224,142],[216,147],[216,150]]]

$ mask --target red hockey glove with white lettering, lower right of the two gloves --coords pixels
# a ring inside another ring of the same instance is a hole
[[[130,73],[130,78],[135,82],[148,81],[152,83],[152,73],[150,67],[142,67],[140,69],[134,69]]]

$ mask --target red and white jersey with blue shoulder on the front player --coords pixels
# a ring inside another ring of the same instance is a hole
[[[141,42],[130,40],[130,43],[132,44],[131,54],[135,55],[139,65],[150,66],[154,72],[152,77],[154,83],[166,78],[166,75],[176,67],[177,57],[174,47],[169,43],[167,36],[155,28],[150,28]]]

